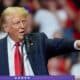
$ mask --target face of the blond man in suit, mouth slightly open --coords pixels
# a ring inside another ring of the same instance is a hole
[[[27,27],[27,17],[11,14],[6,17],[5,31],[16,42],[22,41]]]

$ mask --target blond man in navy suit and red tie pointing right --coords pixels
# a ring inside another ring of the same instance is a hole
[[[2,13],[2,26],[8,36],[0,40],[0,75],[47,75],[50,57],[80,48],[79,40],[50,40],[43,33],[27,34],[27,30],[25,35],[27,16],[22,7],[8,7]]]

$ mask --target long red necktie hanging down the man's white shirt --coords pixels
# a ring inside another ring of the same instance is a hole
[[[14,64],[15,64],[15,75],[22,76],[24,72],[23,60],[19,51],[19,43],[15,44]]]

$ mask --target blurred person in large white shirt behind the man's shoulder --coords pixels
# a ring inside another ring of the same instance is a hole
[[[34,22],[39,25],[39,32],[44,32],[48,38],[53,38],[54,32],[60,30],[59,20],[54,14],[56,2],[53,0],[38,0],[41,8],[34,15]]]

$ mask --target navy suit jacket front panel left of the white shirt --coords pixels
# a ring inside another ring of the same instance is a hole
[[[2,40],[0,46],[0,75],[9,75],[7,37]]]

